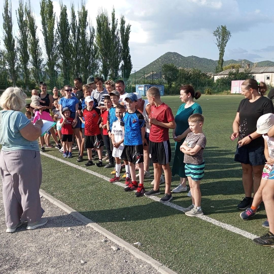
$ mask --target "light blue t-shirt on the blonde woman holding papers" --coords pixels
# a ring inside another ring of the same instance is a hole
[[[19,130],[30,123],[30,120],[20,111],[0,111],[0,144],[2,150],[36,150],[39,151],[38,142],[28,141]]]

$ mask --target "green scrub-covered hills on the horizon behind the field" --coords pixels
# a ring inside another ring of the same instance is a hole
[[[138,75],[143,75],[144,71],[147,75],[148,73],[156,72],[159,73],[162,69],[163,64],[169,64],[173,63],[178,68],[199,68],[202,72],[212,72],[215,73],[215,67],[217,65],[218,60],[212,60],[207,58],[200,58],[197,56],[182,56],[181,54],[177,52],[167,52],[151,62],[150,64],[146,65],[145,67],[141,68],[136,72]],[[245,66],[246,64],[250,64],[250,67],[254,65],[253,62],[250,62],[249,60],[242,59],[242,60],[227,60],[224,61],[224,66],[229,64],[235,64],[239,63],[242,66]],[[261,61],[257,63],[257,67],[274,67],[274,62],[272,61]],[[132,74],[132,76],[134,73]]]

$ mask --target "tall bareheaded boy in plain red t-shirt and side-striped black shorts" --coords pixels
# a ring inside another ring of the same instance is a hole
[[[168,105],[161,101],[160,92],[156,87],[147,91],[147,99],[151,105],[149,125],[149,157],[154,167],[154,187],[145,192],[145,196],[160,194],[159,185],[162,169],[165,174],[165,195],[160,202],[169,202],[172,199],[170,192],[171,170],[171,147],[169,143],[169,129],[175,129],[174,116]]]

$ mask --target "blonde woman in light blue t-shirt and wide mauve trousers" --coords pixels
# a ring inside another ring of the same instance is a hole
[[[20,112],[26,97],[18,87],[7,88],[0,97],[0,172],[6,232],[15,232],[25,221],[30,230],[47,222],[47,218],[41,218],[44,210],[39,196],[42,167],[37,138],[43,122],[32,124]]]

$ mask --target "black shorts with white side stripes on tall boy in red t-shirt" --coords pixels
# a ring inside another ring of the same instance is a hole
[[[169,140],[164,142],[149,141],[149,158],[153,163],[166,165],[171,161],[171,147]]]

